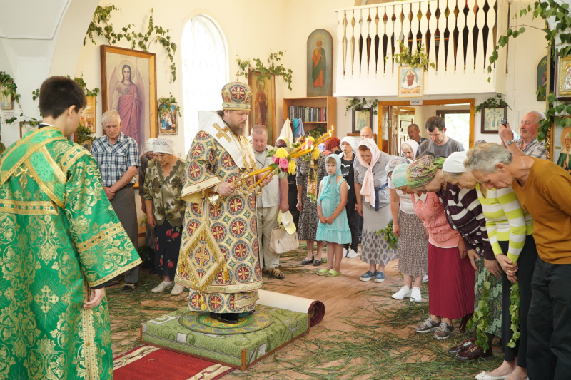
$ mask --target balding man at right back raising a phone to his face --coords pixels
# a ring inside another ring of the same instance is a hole
[[[513,131],[510,123],[500,125],[498,134],[502,139],[502,145],[515,157],[529,155],[530,157],[547,159],[545,146],[537,141],[540,128],[540,121],[545,119],[545,114],[540,111],[526,113],[520,122],[520,138],[513,140]]]

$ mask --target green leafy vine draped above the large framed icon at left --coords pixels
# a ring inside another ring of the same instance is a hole
[[[96,45],[94,39],[94,34],[97,36],[103,36],[109,43],[109,45],[115,45],[116,42],[121,41],[125,38],[126,41],[131,42],[131,48],[140,48],[142,51],[148,51],[151,46],[151,42],[163,46],[168,56],[169,61],[171,61],[171,77],[173,81],[176,81],[176,65],[174,63],[174,53],[176,53],[176,43],[171,41],[171,36],[168,34],[169,29],[164,29],[162,26],[154,24],[153,21],[153,8],[151,8],[151,15],[148,17],[148,25],[146,33],[141,33],[136,31],[136,26],[133,24],[128,24],[123,26],[121,31],[116,32],[113,29],[113,24],[111,24],[111,12],[121,11],[114,5],[110,6],[97,6],[94,17],[91,19],[91,23],[86,32],[86,38],[84,38],[84,45],[86,44],[87,38],[91,39],[91,42]]]

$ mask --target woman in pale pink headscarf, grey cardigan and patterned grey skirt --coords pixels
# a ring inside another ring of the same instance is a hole
[[[391,156],[381,152],[370,138],[363,138],[358,146],[355,160],[355,195],[357,211],[363,216],[363,237],[361,239],[361,260],[369,270],[360,277],[361,281],[385,281],[385,265],[395,260],[395,250],[385,240],[385,233],[379,235],[391,220],[388,175],[385,170]]]

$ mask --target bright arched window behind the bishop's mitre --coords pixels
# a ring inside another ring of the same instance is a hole
[[[198,112],[220,109],[220,91],[228,82],[228,47],[213,19],[199,14],[186,22],[181,55],[186,153],[198,133]]]

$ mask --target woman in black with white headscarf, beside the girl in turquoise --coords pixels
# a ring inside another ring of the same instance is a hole
[[[343,245],[343,257],[348,257],[349,259],[353,259],[353,257],[358,256],[357,252],[359,245],[360,215],[357,212],[357,197],[355,196],[355,174],[353,170],[356,150],[357,140],[355,140],[355,138],[351,136],[345,136],[343,139],[341,139],[341,153],[339,153],[339,157],[341,158],[341,174],[349,186],[349,191],[347,194],[347,206],[345,207],[345,211],[347,212],[347,221],[349,222],[349,228],[351,230],[351,243],[350,245]]]

